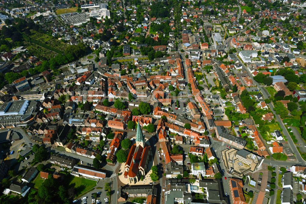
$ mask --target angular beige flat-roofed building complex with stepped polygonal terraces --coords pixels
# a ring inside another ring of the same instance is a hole
[[[224,166],[230,174],[242,177],[261,168],[263,158],[245,149],[225,149],[222,152]]]

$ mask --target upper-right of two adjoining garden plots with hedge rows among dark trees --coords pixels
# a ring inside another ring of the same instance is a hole
[[[48,35],[41,34],[31,30],[31,35],[29,36],[33,40],[37,40],[40,43],[44,43],[52,48],[58,49],[60,51],[65,51],[65,49],[69,46],[66,43],[63,43],[60,40],[54,39]]]

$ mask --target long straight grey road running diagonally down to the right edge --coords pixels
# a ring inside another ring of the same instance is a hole
[[[236,55],[237,55],[237,54],[236,54]],[[252,80],[253,80],[253,83],[258,87],[258,89],[260,90],[260,92],[261,92],[262,95],[263,95],[263,98],[264,98],[264,99],[269,98],[270,94],[268,93],[267,89],[265,89],[261,84],[259,84],[257,81],[254,80],[252,73],[244,66],[244,63],[239,59],[238,56],[237,56],[237,59],[238,59],[239,62],[241,63],[241,65],[242,65],[242,67],[244,68],[244,70],[246,70],[246,71],[248,72],[249,76],[250,76],[250,77],[252,78]],[[306,162],[304,161],[304,159],[301,157],[299,151],[297,150],[297,147],[296,147],[296,145],[294,144],[292,138],[290,137],[290,135],[289,135],[289,133],[288,133],[288,131],[287,131],[287,128],[285,127],[285,125],[284,125],[282,119],[280,118],[279,115],[277,115],[277,114],[275,113],[275,111],[274,111],[274,105],[273,105],[272,102],[269,104],[269,107],[271,108],[272,113],[275,115],[276,121],[279,122],[279,125],[280,125],[280,127],[282,128],[284,135],[285,135],[286,138],[288,139],[289,147],[290,147],[290,149],[293,151],[293,153],[296,155],[297,161],[299,161],[299,163],[305,163],[305,164],[306,164]]]

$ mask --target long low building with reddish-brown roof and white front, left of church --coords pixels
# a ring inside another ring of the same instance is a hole
[[[75,165],[71,171],[71,175],[73,176],[83,176],[87,179],[92,179],[92,180],[98,180],[98,179],[105,179],[106,178],[106,173],[102,172],[98,169],[92,169],[88,168],[85,166],[79,166]]]

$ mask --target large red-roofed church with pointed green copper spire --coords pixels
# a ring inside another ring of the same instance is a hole
[[[144,135],[137,125],[136,143],[132,145],[124,169],[124,178],[129,180],[129,183],[136,183],[141,177],[147,174],[150,169],[147,166],[152,156],[151,146],[145,143]]]

